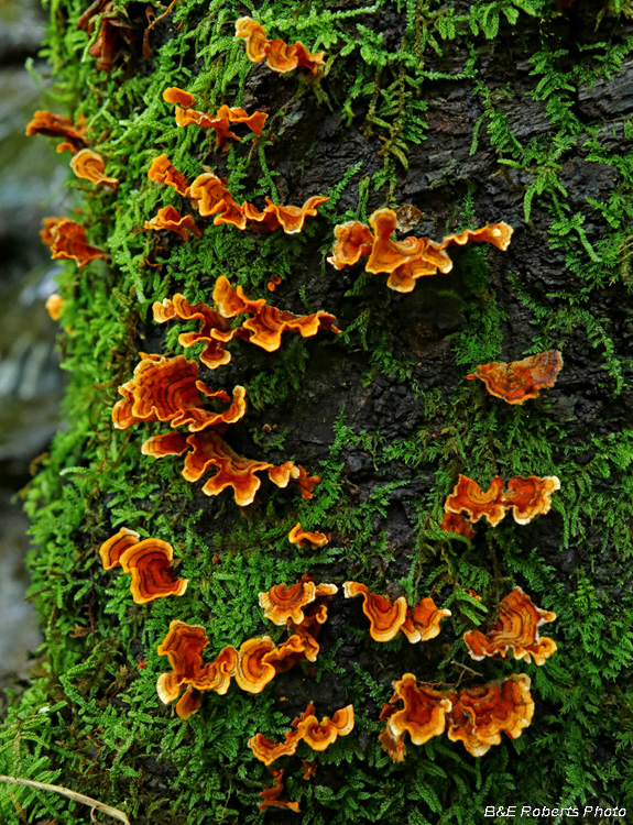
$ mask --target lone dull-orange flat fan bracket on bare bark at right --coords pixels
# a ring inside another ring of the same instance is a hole
[[[467,381],[482,381],[485,389],[508,404],[524,404],[536,398],[542,389],[549,389],[563,367],[563,355],[558,350],[538,352],[523,361],[494,361],[478,364],[477,372],[467,375]]]

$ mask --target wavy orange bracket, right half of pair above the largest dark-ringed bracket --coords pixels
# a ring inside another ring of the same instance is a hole
[[[223,318],[234,318],[242,314],[252,315],[252,318],[242,323],[241,329],[248,334],[249,343],[261,346],[266,352],[279,350],[285,331],[298,332],[302,338],[316,336],[320,330],[340,332],[334,323],[336,317],[329,312],[319,310],[312,315],[298,316],[271,307],[263,298],[251,300],[247,298],[241,286],[233,289],[223,275],[216,282],[214,300]]]

